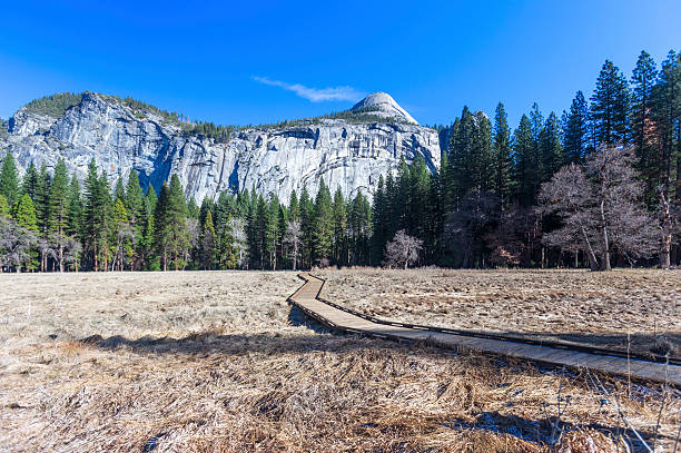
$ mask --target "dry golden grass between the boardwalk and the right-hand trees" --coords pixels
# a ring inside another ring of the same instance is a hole
[[[681,270],[344,269],[323,296],[378,318],[681,356]]]

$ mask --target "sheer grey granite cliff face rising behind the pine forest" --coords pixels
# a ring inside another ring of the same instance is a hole
[[[22,171],[31,161],[38,168],[43,163],[53,167],[63,157],[82,179],[95,158],[111,183],[135,169],[142,185],[158,189],[177,174],[187,196],[197,201],[251,187],[288,200],[292,190],[299,194],[304,185],[316,194],[322,179],[332,190],[340,187],[345,196],[362,190],[372,197],[379,175],[396,170],[403,156],[411,163],[421,155],[432,170],[440,165],[437,132],[417,125],[323,119],[247,129],[227,142],[215,142],[96,93],[85,93],[60,118],[22,108],[10,120],[9,132],[0,136],[0,157],[11,149]]]

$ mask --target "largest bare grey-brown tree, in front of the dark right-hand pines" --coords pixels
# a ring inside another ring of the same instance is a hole
[[[601,147],[589,156],[584,169],[572,164],[542,185],[540,211],[555,213],[562,223],[544,235],[544,243],[571,252],[579,247],[592,270],[610,270],[615,252],[630,264],[652,256],[657,233],[640,203],[642,187],[633,159],[628,147]]]

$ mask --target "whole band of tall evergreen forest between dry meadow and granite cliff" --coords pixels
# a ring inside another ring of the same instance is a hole
[[[588,99],[562,115],[534,104],[512,130],[464,107],[440,127],[441,168],[402,159],[373,205],[324,181],[289,200],[219,194],[187,201],[177,176],[157,195],[137,173],[110,187],[91,161],[82,181],[59,161],[19,180],[0,168],[0,269],[283,269],[385,264],[397,233],[417,265],[591,267],[678,265],[681,55],[642,51],[631,78],[605,61]]]

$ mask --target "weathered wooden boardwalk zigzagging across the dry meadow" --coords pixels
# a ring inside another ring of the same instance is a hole
[[[396,341],[430,341],[435,345],[442,345],[442,347],[476,349],[554,366],[585,367],[608,374],[630,375],[635,380],[667,381],[671,385],[681,387],[681,366],[679,365],[409,328],[365,319],[320,301],[319,293],[324,286],[323,279],[309,274],[300,274],[300,277],[306,282],[289,297],[289,302],[299,307],[306,315],[335,331]]]

